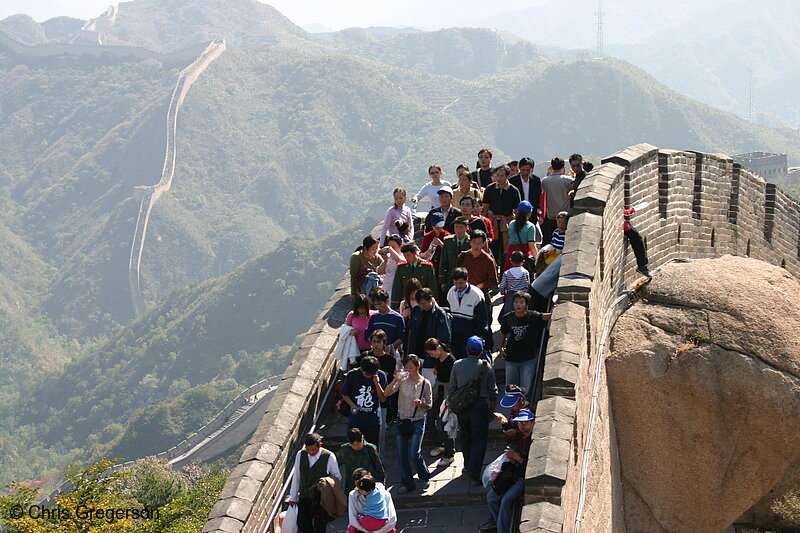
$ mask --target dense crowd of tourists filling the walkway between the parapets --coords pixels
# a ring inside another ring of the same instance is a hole
[[[394,189],[380,234],[366,236],[351,256],[352,310],[336,348],[349,442],[333,454],[321,448],[319,435],[306,437],[290,491],[302,533],[325,531],[319,498],[309,494],[322,478],[349,492],[350,532],[394,531],[385,486],[392,427],[396,494],[428,487],[433,465],[426,455],[443,468],[460,452],[462,475],[487,489],[481,531],[511,531],[541,396],[550,296],[575,194],[592,165],[573,154],[553,158],[542,178],[533,168],[529,157],[493,166],[486,148],[476,168],[459,165],[452,182],[431,165],[429,181],[410,198]],[[423,220],[416,211],[426,198],[431,208]],[[626,209],[625,234],[649,276],[632,214]],[[502,306],[498,324],[493,300]],[[495,375],[500,360],[503,394]],[[498,403],[507,414],[496,412]],[[492,461],[486,452],[494,422],[508,442]],[[426,435],[433,446],[423,455]]]

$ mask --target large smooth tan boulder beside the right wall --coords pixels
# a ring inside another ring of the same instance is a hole
[[[673,263],[606,360],[627,533],[719,533],[800,464],[800,284],[740,257]]]

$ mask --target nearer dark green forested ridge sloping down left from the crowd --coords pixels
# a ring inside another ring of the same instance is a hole
[[[375,224],[283,241],[226,276],[174,292],[20,391],[2,412],[2,481],[54,474],[91,456],[163,451],[244,388],[281,374],[296,336]]]

